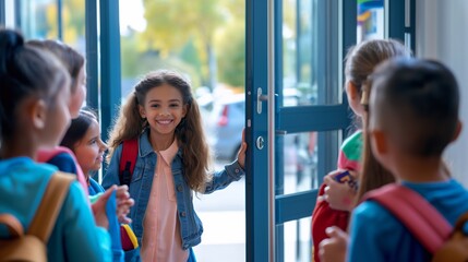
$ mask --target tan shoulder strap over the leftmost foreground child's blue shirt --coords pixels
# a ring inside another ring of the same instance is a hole
[[[57,171],[52,175],[36,215],[29,225],[28,235],[34,235],[44,242],[49,240],[57,216],[70,190],[70,183],[74,180],[75,176],[70,174]]]

